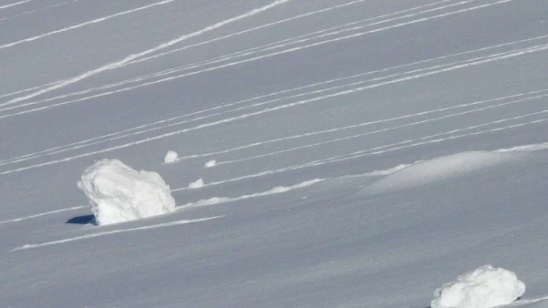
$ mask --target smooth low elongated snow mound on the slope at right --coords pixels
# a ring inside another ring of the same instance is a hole
[[[457,177],[474,170],[489,168],[521,156],[520,153],[495,151],[468,151],[453,155],[418,161],[406,168],[395,170],[384,179],[369,185],[368,194],[405,190],[426,185],[437,180]]]

